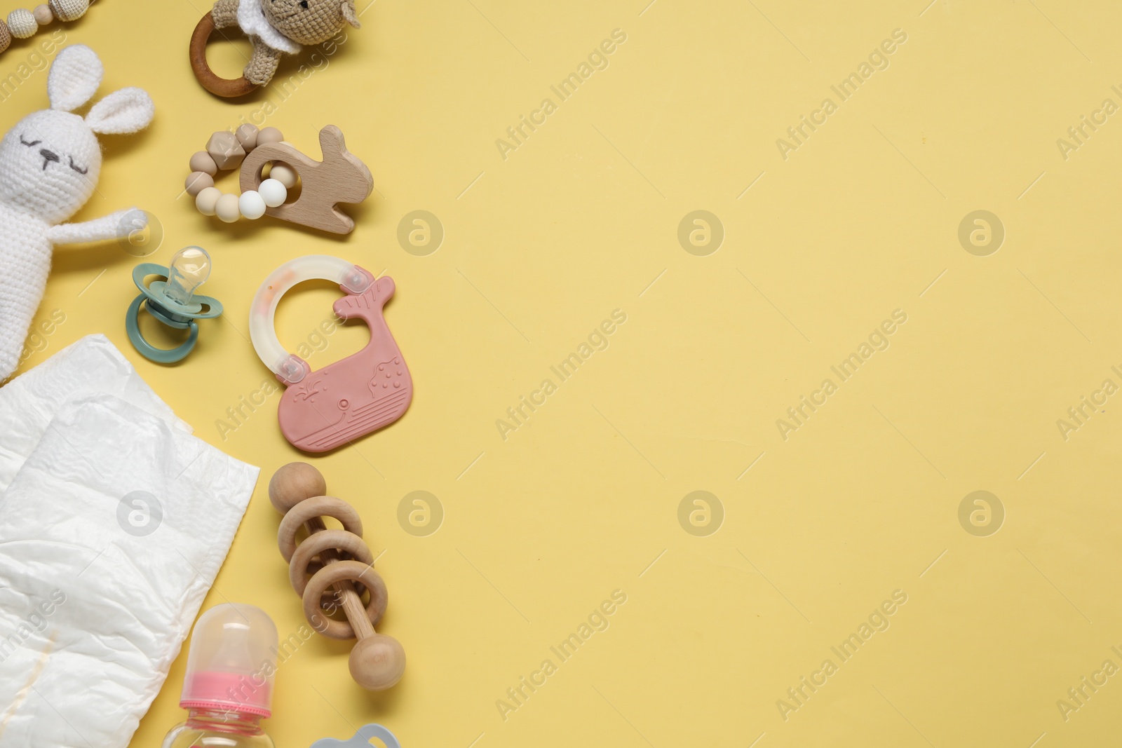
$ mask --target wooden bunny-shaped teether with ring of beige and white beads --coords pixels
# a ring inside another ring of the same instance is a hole
[[[246,123],[236,131],[220,130],[206,142],[206,150],[191,157],[191,174],[184,185],[203,215],[217,215],[233,223],[240,218],[256,220],[265,214],[291,223],[350,233],[355,221],[338,203],[360,203],[374,191],[374,177],[366,165],[347,150],[343,133],[329,124],[320,130],[323,160],[316,161],[284,140],[280,130],[258,130]],[[272,164],[263,179],[266,164]],[[214,186],[219,170],[239,168],[241,196]],[[285,204],[288,191],[301,179],[301,194]]]

